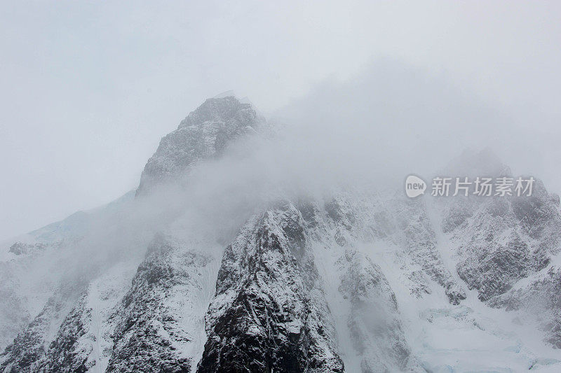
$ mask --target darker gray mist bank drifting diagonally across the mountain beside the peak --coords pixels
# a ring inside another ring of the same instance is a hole
[[[278,201],[401,192],[405,176],[432,175],[466,149],[487,148],[515,172],[542,169],[539,157],[525,156],[543,150],[545,136],[513,118],[445,76],[381,59],[266,114],[255,134],[199,162],[179,182],[116,211],[92,213],[86,237],[56,255],[53,266],[65,262],[72,281],[95,276],[121,260],[142,260],[161,232],[219,253],[254,213]],[[553,173],[543,178],[555,185]]]

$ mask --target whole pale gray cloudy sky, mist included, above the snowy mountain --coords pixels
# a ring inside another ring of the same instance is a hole
[[[0,237],[134,188],[158,139],[228,89],[309,122],[292,153],[322,145],[283,163],[296,179],[318,164],[402,178],[493,146],[559,190],[559,15],[554,2],[4,4]]]

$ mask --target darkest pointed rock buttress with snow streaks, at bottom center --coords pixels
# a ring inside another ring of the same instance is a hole
[[[198,372],[343,372],[302,216],[270,209],[228,246]]]

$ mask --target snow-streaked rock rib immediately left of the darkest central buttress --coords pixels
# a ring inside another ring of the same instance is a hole
[[[163,236],[154,240],[112,316],[116,328],[107,372],[191,372],[212,261]]]

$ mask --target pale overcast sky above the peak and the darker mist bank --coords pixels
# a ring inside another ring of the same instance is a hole
[[[135,188],[161,136],[207,97],[235,90],[271,113],[325,80],[353,81],[381,58],[439,76],[535,130],[543,148],[525,152],[522,136],[513,143],[529,160],[514,162],[561,191],[558,1],[3,1],[1,9],[0,239]]]

